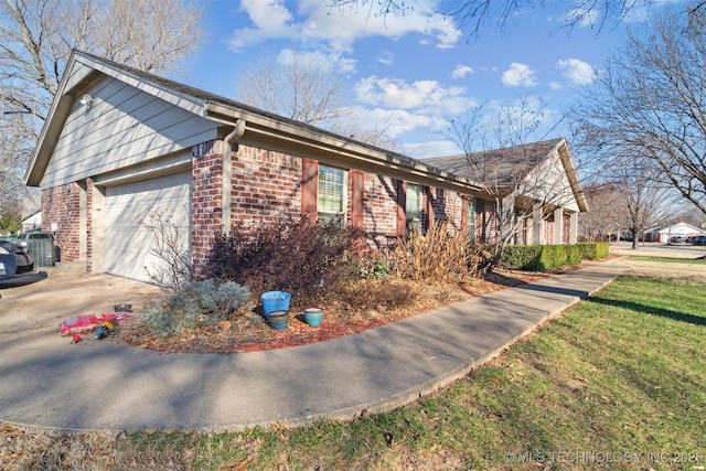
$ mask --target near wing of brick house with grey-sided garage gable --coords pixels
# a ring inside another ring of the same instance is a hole
[[[145,227],[156,212],[179,224],[195,265],[236,223],[341,217],[378,245],[432,221],[478,238],[489,224],[468,176],[82,52],[25,181],[41,188],[63,260],[147,281],[145,267],[162,264]]]

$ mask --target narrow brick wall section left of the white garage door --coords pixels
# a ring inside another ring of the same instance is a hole
[[[76,261],[79,254],[81,191],[77,183],[42,190],[42,231],[56,223],[55,243],[62,261]]]

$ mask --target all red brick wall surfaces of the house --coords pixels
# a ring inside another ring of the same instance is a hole
[[[194,148],[191,188],[191,256],[199,268],[208,256],[216,234],[222,231],[223,142],[214,140]],[[231,229],[279,222],[301,215],[302,158],[263,150],[248,146],[234,146],[232,154]],[[352,176],[347,172],[346,223],[352,214]],[[83,186],[83,188],[82,188]],[[81,195],[85,193],[86,263],[90,272],[96,248],[93,246],[94,182],[60,185],[42,191],[42,229],[51,223],[58,226],[57,245],[63,261],[81,257]],[[363,228],[373,245],[387,246],[396,240],[398,181],[391,176],[363,174]],[[427,204],[427,199],[431,199]],[[461,196],[451,191],[431,189],[422,192],[422,208],[434,211],[434,220],[447,221],[449,232],[461,231],[463,204]],[[428,214],[425,217],[428,221]],[[480,223],[480,221],[479,221]],[[109,228],[106,228],[109,231]],[[100,250],[99,250],[100,251]]]

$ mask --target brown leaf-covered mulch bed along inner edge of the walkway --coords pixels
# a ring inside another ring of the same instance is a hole
[[[153,334],[136,320],[121,327],[118,341],[173,353],[246,353],[322,342],[374,329],[452,302],[545,278],[546,274],[495,271],[463,283],[364,280],[351,285],[341,300],[324,306],[319,327],[303,321],[303,308],[292,304],[289,325],[271,329],[257,312],[170,338]],[[354,301],[346,301],[354,300]]]

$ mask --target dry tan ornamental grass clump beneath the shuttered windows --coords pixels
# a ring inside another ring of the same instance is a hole
[[[432,224],[424,236],[410,236],[387,253],[391,267],[403,279],[463,281],[478,275],[490,253],[460,232],[449,235],[447,223]]]

